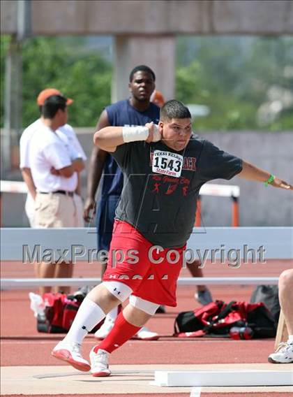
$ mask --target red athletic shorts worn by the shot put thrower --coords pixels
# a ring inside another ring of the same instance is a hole
[[[115,221],[103,281],[123,282],[146,301],[176,306],[176,281],[185,247],[157,251],[133,226]]]

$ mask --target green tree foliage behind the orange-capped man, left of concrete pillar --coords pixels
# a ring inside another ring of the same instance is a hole
[[[6,43],[7,39],[1,37],[1,46],[2,40]],[[3,58],[1,52],[1,71],[4,52]],[[111,100],[112,64],[103,55],[87,49],[84,38],[76,38],[75,45],[72,38],[31,38],[22,45],[22,60],[24,127],[38,117],[36,97],[46,87],[60,89],[74,99],[69,112],[70,124],[75,127],[96,125],[98,116]]]

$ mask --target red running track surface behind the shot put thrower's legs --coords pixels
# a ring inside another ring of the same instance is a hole
[[[267,264],[246,264],[240,268],[229,268],[225,264],[207,264],[204,269],[206,277],[276,277],[291,268],[292,261],[268,261]],[[187,277],[188,271],[183,270],[181,276]],[[98,265],[79,263],[75,268],[75,277],[98,277]],[[31,265],[3,263],[1,277],[33,277]],[[249,301],[252,286],[211,286],[214,299],[226,302],[232,300]],[[150,363],[266,363],[267,356],[273,351],[274,340],[229,340],[224,338],[201,338],[181,340],[173,338],[174,318],[183,310],[193,310],[199,307],[193,294],[195,287],[179,287],[178,306],[167,308],[167,314],[155,315],[149,321],[149,328],[162,335],[158,341],[143,342],[130,340],[126,345],[112,354],[112,364],[150,364]],[[33,312],[29,308],[29,290],[1,291],[1,366],[60,366],[50,356],[50,350],[63,335],[38,333]],[[35,291],[37,292],[37,291]],[[95,344],[93,335],[87,336],[84,342],[84,354],[88,354]],[[64,364],[66,365],[66,364]],[[288,396],[284,393],[269,393],[266,396]],[[5,397],[6,395],[3,395]],[[60,395],[70,397],[70,395]],[[117,394],[100,396],[114,397]],[[126,395],[121,394],[121,397]],[[135,394],[133,397],[149,397]],[[155,396],[162,396],[156,395]],[[174,397],[174,394],[164,394]],[[186,397],[189,394],[178,394],[176,397]],[[213,397],[243,397],[243,394],[213,394]],[[45,397],[38,395],[35,397]],[[91,396],[88,396],[91,397]],[[201,397],[211,397],[202,393]],[[252,394],[252,397],[264,397],[262,393]]]

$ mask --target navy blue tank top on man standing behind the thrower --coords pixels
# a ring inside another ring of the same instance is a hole
[[[149,108],[140,112],[130,105],[129,99],[124,99],[106,107],[109,124],[111,126],[136,126],[148,122],[158,124],[160,108],[154,103]],[[120,196],[123,187],[123,173],[111,154],[107,155],[104,167],[102,196]]]

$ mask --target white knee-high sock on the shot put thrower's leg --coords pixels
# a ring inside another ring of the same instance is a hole
[[[84,298],[73,320],[73,324],[70,326],[70,330],[63,339],[64,342],[81,343],[87,333],[103,320],[104,317],[105,313],[99,305],[87,297]]]

